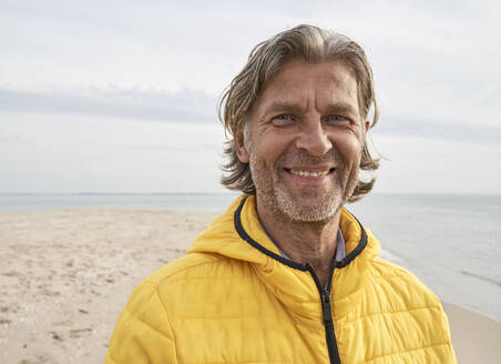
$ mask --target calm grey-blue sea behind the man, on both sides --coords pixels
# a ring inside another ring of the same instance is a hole
[[[9,194],[0,195],[0,212],[132,209],[223,213],[236,196]],[[501,322],[501,195],[369,194],[346,208],[378,237],[382,257],[411,271],[440,300]]]

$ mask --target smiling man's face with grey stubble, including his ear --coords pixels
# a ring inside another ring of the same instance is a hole
[[[253,105],[248,140],[235,138],[258,211],[303,222],[336,214],[357,184],[367,127],[346,63],[286,62]]]

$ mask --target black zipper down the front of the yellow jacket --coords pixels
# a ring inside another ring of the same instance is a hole
[[[321,316],[325,327],[325,336],[327,341],[327,351],[329,353],[330,364],[341,364],[341,360],[339,358],[339,351],[336,343],[336,334],[334,332],[333,311],[330,309],[330,283],[333,282],[335,265],[336,263],[333,263],[327,286],[323,287],[313,266],[309,263],[305,264],[306,269],[311,274],[315,284],[317,285],[318,292],[320,293]]]

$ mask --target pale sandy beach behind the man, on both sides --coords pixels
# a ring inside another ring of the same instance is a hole
[[[216,214],[0,213],[0,363],[102,363],[133,287]],[[501,323],[444,303],[459,363],[500,363]]]

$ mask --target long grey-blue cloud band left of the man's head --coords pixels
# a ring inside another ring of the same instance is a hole
[[[203,91],[88,88],[50,91],[0,89],[0,108],[34,113],[86,114],[122,119],[187,121],[211,123],[217,120],[217,98]]]

